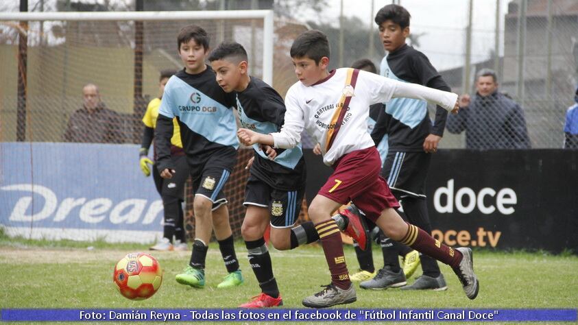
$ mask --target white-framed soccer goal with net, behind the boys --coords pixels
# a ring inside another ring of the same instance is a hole
[[[142,243],[162,236],[160,196],[139,169],[141,119],[160,95],[160,71],[182,69],[176,36],[191,23],[206,29],[210,47],[241,43],[251,75],[274,82],[274,50],[287,42],[274,36],[271,10],[0,13],[1,232]],[[83,108],[86,84],[114,114],[91,121],[94,138],[78,139],[69,119]],[[251,155],[239,150],[225,189],[236,234]],[[189,233],[192,193],[187,185]]]

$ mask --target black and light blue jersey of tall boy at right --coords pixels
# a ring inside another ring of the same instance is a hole
[[[381,61],[381,75],[398,80],[421,84],[440,91],[450,91],[450,87],[432,67],[423,53],[408,45],[389,53]],[[435,121],[429,118],[427,102],[411,98],[394,98],[385,105],[385,115],[380,123],[387,123],[389,149],[393,151],[421,152],[429,134],[443,136],[448,112],[437,107]],[[372,138],[381,142],[385,133],[374,132]]]

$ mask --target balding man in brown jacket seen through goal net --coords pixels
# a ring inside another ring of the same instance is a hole
[[[100,99],[98,87],[82,87],[82,108],[75,110],[69,119],[65,142],[123,143],[121,116],[109,110]]]

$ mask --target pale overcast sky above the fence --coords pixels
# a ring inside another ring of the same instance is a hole
[[[330,6],[323,12],[326,22],[339,22],[339,3],[341,0],[328,0]],[[344,15],[358,16],[368,25],[373,22],[371,0],[343,0]],[[507,13],[507,4],[511,0],[500,0],[501,3],[501,43],[503,44],[503,16]],[[374,0],[374,14],[391,0]],[[428,56],[436,69],[445,70],[463,65],[465,53],[465,30],[468,25],[468,0],[401,0],[411,14],[410,30],[422,34],[420,51]],[[313,12],[304,14],[303,21],[316,19]],[[494,30],[496,23],[496,0],[474,0],[472,62],[489,58],[494,49]],[[375,23],[373,23],[376,27]],[[503,53],[503,45],[501,45]]]

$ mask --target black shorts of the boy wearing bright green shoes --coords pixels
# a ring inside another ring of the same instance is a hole
[[[227,150],[209,156],[204,164],[191,166],[195,196],[201,195],[213,202],[213,210],[227,203],[223,189],[235,163],[237,151]]]

